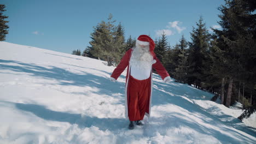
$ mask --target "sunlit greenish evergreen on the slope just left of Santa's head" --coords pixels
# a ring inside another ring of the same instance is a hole
[[[91,33],[90,52],[94,57],[107,61],[107,65],[117,65],[123,55],[123,37],[118,35],[118,27],[112,21],[112,14],[109,14],[108,21],[102,21],[94,27]]]

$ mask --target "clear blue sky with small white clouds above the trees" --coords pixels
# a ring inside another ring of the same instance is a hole
[[[206,27],[219,27],[217,9],[224,0],[195,1],[82,1],[1,0],[9,34],[7,42],[59,52],[83,51],[90,45],[90,33],[111,13],[125,28],[125,38],[149,34],[159,38],[164,30],[173,46],[184,34],[190,41],[192,27],[202,15]]]

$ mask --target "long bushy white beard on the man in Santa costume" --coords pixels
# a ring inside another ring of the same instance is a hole
[[[153,56],[149,52],[149,46],[143,48],[136,45],[135,49],[132,51],[130,64],[139,69],[148,69],[152,67]]]

